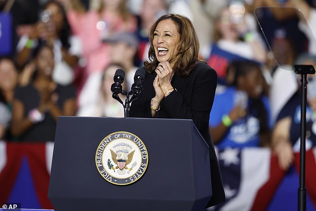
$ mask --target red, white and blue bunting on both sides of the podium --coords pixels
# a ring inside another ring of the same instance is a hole
[[[0,204],[53,209],[47,198],[53,143],[0,141]],[[287,172],[269,149],[217,152],[227,202],[208,211],[296,211],[299,154]],[[62,173],[61,173],[62,174]],[[316,211],[316,148],[306,154],[307,211]],[[105,181],[106,182],[106,181]]]

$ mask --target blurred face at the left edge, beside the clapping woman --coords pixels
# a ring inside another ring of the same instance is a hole
[[[3,59],[0,61],[0,89],[13,90],[17,83],[17,71],[12,61]]]

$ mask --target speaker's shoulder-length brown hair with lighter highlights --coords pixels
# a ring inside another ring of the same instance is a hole
[[[165,19],[171,19],[177,26],[177,31],[180,34],[180,44],[177,49],[178,55],[173,66],[174,73],[179,76],[188,76],[198,61],[199,41],[192,22],[187,17],[179,14],[164,14],[149,29],[149,61],[145,61],[144,65],[150,73],[153,73],[158,66],[159,61],[156,58],[153,45],[154,32],[158,23]]]

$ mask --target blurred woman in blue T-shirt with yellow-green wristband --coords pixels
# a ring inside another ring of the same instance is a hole
[[[232,62],[228,76],[228,86],[216,92],[210,113],[214,144],[219,150],[270,146],[270,104],[259,64]]]

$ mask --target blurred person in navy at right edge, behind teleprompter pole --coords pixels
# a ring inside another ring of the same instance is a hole
[[[302,53],[295,64],[313,65],[316,67],[316,56]],[[316,146],[316,76],[308,75],[307,108],[306,108],[306,150]],[[297,83],[300,83],[297,79]],[[279,112],[272,133],[272,149],[277,155],[279,165],[288,170],[294,161],[294,152],[300,151],[301,139],[301,86]]]

